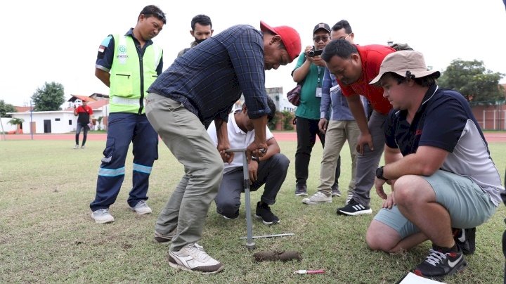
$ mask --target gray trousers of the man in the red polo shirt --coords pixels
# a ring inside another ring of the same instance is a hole
[[[374,150],[371,151],[369,146],[365,144],[363,155],[357,154],[356,183],[353,200],[364,206],[369,206],[370,190],[374,185],[376,169],[378,164],[380,164],[383,154],[385,143],[383,125],[386,119],[387,115],[382,115],[376,110],[372,111],[368,126]]]

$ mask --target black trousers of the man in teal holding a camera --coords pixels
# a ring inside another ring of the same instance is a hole
[[[320,138],[322,147],[325,147],[325,134],[318,129],[319,120],[308,120],[297,117],[297,152],[295,153],[295,179],[297,184],[306,184],[309,176],[309,160],[311,151],[316,143],[316,136]],[[341,156],[337,160],[335,183],[341,175]]]

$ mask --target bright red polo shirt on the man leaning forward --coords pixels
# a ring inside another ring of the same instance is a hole
[[[380,66],[383,59],[389,53],[395,52],[395,49],[379,44],[369,46],[356,45],[356,48],[362,60],[361,78],[349,86],[342,85],[339,80],[337,80],[337,83],[341,86],[344,96],[363,95],[368,98],[374,110],[387,115],[392,106],[386,98],[383,98],[383,89],[379,86],[370,85],[369,82],[380,74]]]

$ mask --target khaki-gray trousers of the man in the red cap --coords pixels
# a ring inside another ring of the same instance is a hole
[[[146,115],[185,169],[155,226],[164,235],[177,230],[170,246],[177,252],[202,237],[207,211],[223,176],[223,160],[202,122],[181,103],[149,93]]]

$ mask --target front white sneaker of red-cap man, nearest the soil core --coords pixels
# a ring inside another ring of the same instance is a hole
[[[169,265],[175,269],[212,274],[223,269],[223,264],[209,257],[204,247],[192,243],[185,245],[179,252],[169,250]]]

